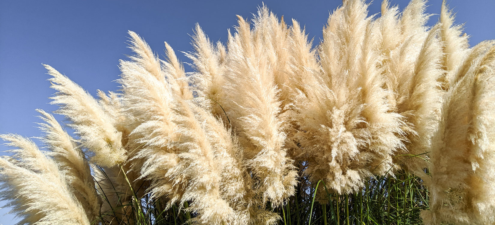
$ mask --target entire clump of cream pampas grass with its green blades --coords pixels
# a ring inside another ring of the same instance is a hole
[[[186,72],[129,31],[120,89],[45,65],[40,148],[1,135],[1,199],[27,224],[495,223],[495,42],[443,3],[344,0],[313,46],[263,5],[226,43],[197,25]]]

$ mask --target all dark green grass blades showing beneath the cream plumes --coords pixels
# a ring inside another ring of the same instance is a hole
[[[296,195],[283,207],[273,209],[281,217],[279,225],[309,225],[310,220],[311,225],[420,225],[420,212],[428,208],[426,186],[418,177],[404,172],[396,173],[395,178],[371,178],[366,188],[350,195],[325,190],[318,199],[314,195],[316,185],[301,176]],[[323,182],[318,188],[324,188]],[[184,225],[195,217],[187,210],[187,202],[170,209],[165,203],[163,198],[152,201],[145,195],[139,204],[126,205],[135,212],[127,220],[136,225]]]

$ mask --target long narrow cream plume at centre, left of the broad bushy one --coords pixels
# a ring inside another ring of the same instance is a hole
[[[229,35],[225,91],[233,100],[225,100],[233,128],[239,135],[246,164],[256,177],[256,189],[263,201],[279,205],[294,194],[296,172],[284,148],[286,134],[279,118],[280,102],[274,83],[272,64],[257,28],[239,18],[237,34]],[[267,49],[268,48],[268,49]]]

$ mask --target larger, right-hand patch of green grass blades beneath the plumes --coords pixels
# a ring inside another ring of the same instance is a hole
[[[308,225],[311,215],[311,225],[420,225],[419,214],[428,208],[426,186],[408,173],[370,179],[367,188],[352,195],[326,190],[325,199],[319,200],[327,203],[315,201],[311,213],[315,186],[299,188],[284,210],[277,209],[282,216],[279,224]]]

